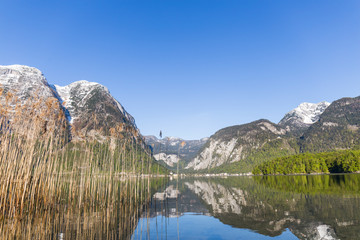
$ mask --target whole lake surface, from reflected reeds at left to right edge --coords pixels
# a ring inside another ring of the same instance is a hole
[[[360,174],[62,182],[0,239],[360,239]]]

